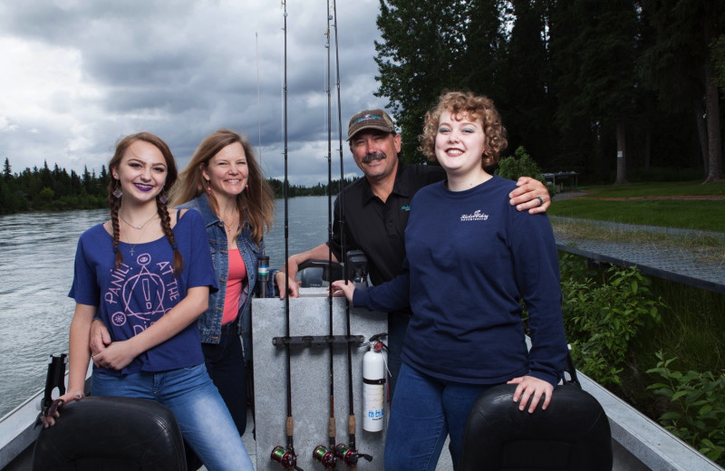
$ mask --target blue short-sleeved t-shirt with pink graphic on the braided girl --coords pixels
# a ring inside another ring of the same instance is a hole
[[[103,225],[93,226],[81,235],[68,295],[76,303],[98,308],[112,341],[127,340],[148,329],[184,299],[189,288],[217,289],[204,220],[198,212],[187,211],[180,216],[173,231],[184,260],[179,275],[173,272],[174,252],[166,236],[144,244],[119,242],[123,263],[114,268],[113,238]],[[94,369],[123,375],[176,370],[203,362],[198,329],[191,322],[173,338],[141,353],[121,371]]]

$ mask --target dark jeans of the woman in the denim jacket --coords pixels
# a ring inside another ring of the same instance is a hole
[[[218,343],[202,343],[207,372],[227,404],[239,435],[247,428],[247,369],[237,322],[222,326]]]

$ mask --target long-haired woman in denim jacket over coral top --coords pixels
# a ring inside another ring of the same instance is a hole
[[[245,362],[251,361],[250,308],[257,259],[265,246],[263,236],[274,222],[275,197],[251,143],[232,130],[217,130],[201,141],[171,195],[173,205],[196,209],[207,226],[219,290],[209,294],[208,309],[197,326],[208,374],[243,435],[247,428]],[[273,293],[274,282],[285,284],[284,274],[276,276],[281,273],[272,271],[267,293]],[[102,322],[93,322],[91,338],[94,352],[109,344]]]

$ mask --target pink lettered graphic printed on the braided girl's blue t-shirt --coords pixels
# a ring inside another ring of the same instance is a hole
[[[136,257],[139,264],[138,274],[127,264],[114,270],[111,284],[104,294],[104,301],[111,307],[118,304],[118,309],[111,312],[111,323],[116,327],[129,322],[133,335],[145,331],[153,322],[160,319],[166,312],[167,305],[179,298],[179,282],[174,276],[174,267],[168,261],[159,262],[156,272],[151,272],[151,255],[140,254]]]

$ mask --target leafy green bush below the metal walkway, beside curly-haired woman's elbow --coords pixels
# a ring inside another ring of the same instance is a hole
[[[562,312],[578,369],[604,386],[620,385],[630,342],[660,322],[662,301],[636,267],[610,267],[595,281],[581,258],[562,255]]]

